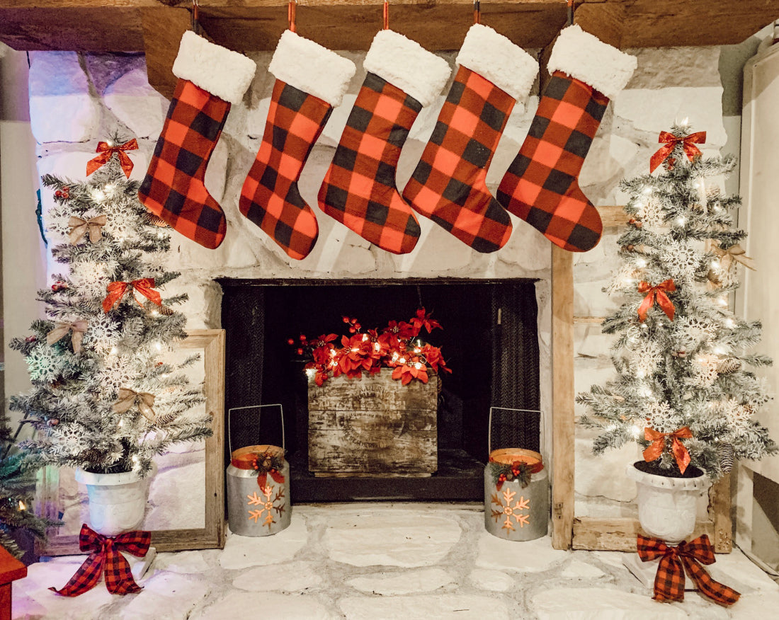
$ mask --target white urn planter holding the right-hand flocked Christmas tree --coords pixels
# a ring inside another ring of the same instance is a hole
[[[706,474],[691,478],[657,476],[636,469],[633,463],[627,466],[626,474],[636,481],[638,520],[644,532],[671,546],[693,534],[698,498],[710,484]],[[638,554],[633,553],[626,555],[623,562],[644,586],[654,583],[660,558],[641,562]]]

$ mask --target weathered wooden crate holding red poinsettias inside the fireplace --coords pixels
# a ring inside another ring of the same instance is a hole
[[[317,476],[429,476],[438,469],[438,377],[392,369],[308,382],[308,469]]]

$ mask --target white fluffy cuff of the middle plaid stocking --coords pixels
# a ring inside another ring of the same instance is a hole
[[[414,97],[423,107],[432,104],[452,72],[443,58],[393,30],[376,33],[362,66]]]

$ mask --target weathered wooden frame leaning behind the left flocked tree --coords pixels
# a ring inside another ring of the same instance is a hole
[[[206,411],[212,417],[213,435],[205,440],[205,514],[203,528],[153,530],[151,544],[157,551],[224,548],[224,329],[191,329],[176,351],[200,351],[203,355],[203,396]],[[36,512],[50,519],[58,518],[60,471],[44,467],[38,472]],[[79,554],[78,534],[59,534],[51,528],[48,543],[36,541],[37,555]]]

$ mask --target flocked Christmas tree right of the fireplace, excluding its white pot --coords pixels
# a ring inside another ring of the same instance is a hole
[[[637,441],[658,473],[679,475],[691,463],[716,480],[734,458],[760,459],[777,446],[756,421],[769,396],[753,368],[771,364],[749,353],[760,322],[728,308],[737,264],[753,268],[730,214],[740,200],[717,184],[735,158],[700,157],[695,144],[704,140],[675,126],[653,157],[661,174],[622,181],[629,230],[605,291],[625,301],[603,323],[619,336],[618,376],[577,401],[589,410],[580,422],[600,431],[594,453]]]

